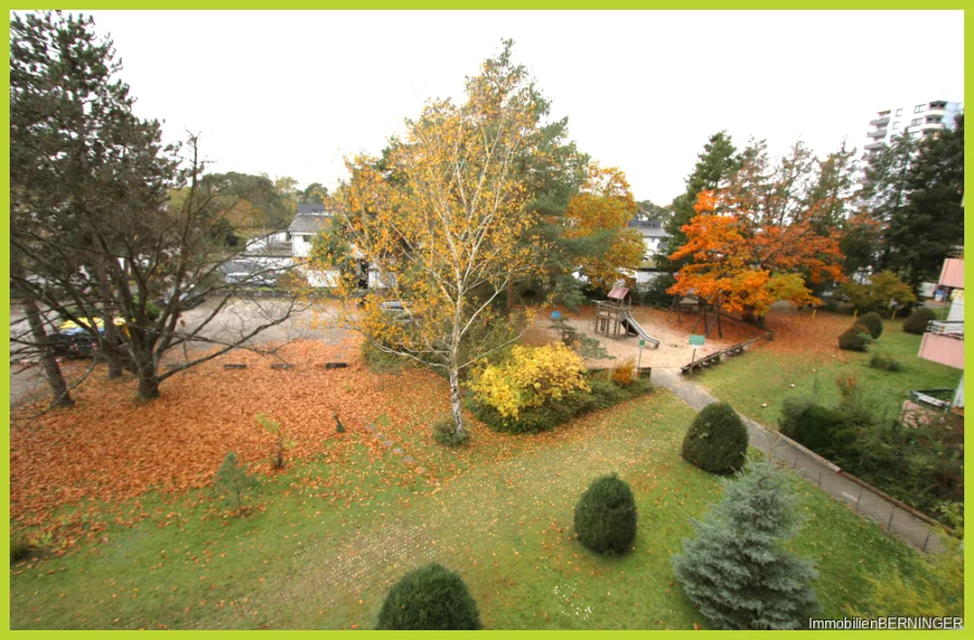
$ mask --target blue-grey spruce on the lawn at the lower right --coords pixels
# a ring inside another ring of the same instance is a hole
[[[785,484],[770,465],[749,465],[672,557],[687,597],[715,628],[798,629],[817,608],[816,572],[783,548],[799,524]]]

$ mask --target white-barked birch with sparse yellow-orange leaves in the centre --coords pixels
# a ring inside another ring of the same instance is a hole
[[[540,110],[509,49],[467,79],[464,104],[429,102],[382,158],[347,161],[350,177],[329,199],[333,237],[312,254],[346,326],[447,374],[458,435],[461,372],[517,337],[498,297],[541,268],[519,171],[538,143]],[[385,302],[359,297],[366,271]]]

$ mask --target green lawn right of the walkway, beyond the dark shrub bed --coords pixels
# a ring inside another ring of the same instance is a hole
[[[820,314],[827,315],[832,314]],[[815,321],[807,318],[806,322]],[[842,326],[851,324],[849,317]],[[810,349],[808,352],[791,350],[783,353],[762,347],[701,373],[695,381],[744,415],[774,427],[781,415],[782,401],[789,394],[816,393],[823,404],[835,405],[839,399],[836,378],[854,376],[863,389],[882,402],[890,416],[896,416],[910,391],[953,389],[961,378],[961,372],[956,368],[921,360],[916,354],[922,337],[904,334],[899,319],[885,321],[883,335],[866,353],[840,351],[835,340],[832,340],[834,349]],[[870,357],[875,352],[900,361],[902,371],[871,367]],[[762,407],[763,403],[767,406]]]

